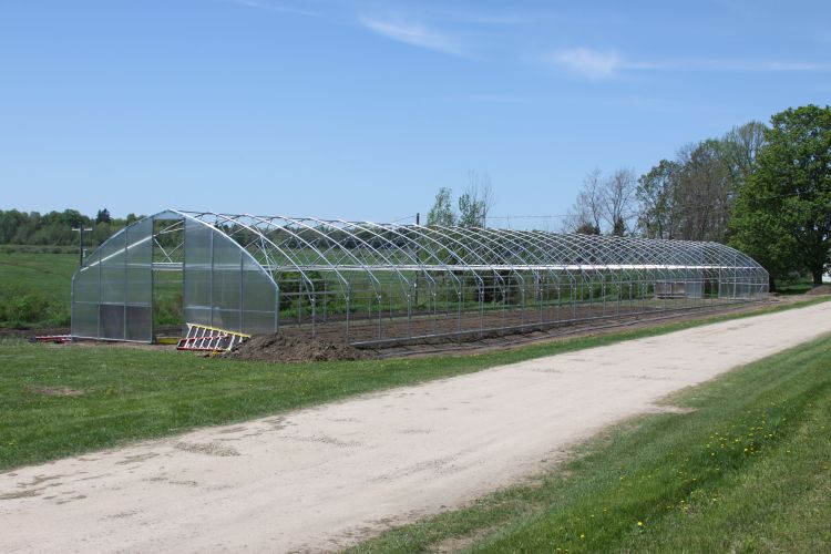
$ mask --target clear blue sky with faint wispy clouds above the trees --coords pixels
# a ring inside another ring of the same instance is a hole
[[[822,1],[3,0],[0,208],[384,222],[476,170],[495,215],[563,214],[594,167],[828,104],[829,22]]]

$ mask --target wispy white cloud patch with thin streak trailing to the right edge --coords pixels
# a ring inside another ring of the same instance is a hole
[[[701,72],[827,72],[831,65],[779,60],[735,60],[735,59],[670,59],[630,60],[616,51],[601,51],[588,48],[555,50],[542,57],[545,64],[592,80],[605,80],[634,71],[701,71]]]

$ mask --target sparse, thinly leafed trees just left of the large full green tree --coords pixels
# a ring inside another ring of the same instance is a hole
[[[719,138],[680,147],[637,177],[599,168],[583,182],[563,224],[567,233],[725,243],[739,191],[753,173],[766,125],[753,121]]]

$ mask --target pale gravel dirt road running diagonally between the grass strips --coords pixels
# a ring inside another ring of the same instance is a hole
[[[337,548],[830,331],[828,302],[14,470],[0,474],[0,551]]]

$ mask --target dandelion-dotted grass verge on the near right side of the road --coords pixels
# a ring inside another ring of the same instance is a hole
[[[541,484],[389,531],[352,553],[824,552],[831,337],[676,396]]]

